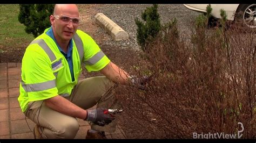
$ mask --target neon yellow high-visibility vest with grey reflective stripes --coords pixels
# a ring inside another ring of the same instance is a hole
[[[18,97],[22,112],[26,111],[29,102],[56,95],[70,96],[82,71],[82,62],[89,72],[98,71],[110,62],[89,35],[77,30],[72,38],[75,77],[72,82],[68,61],[60,53],[55,41],[46,34],[49,29],[30,43],[22,59],[22,80]]]

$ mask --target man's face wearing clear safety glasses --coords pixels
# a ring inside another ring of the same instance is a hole
[[[79,13],[73,9],[60,9],[56,15],[50,16],[55,38],[68,42],[76,33],[79,25]]]

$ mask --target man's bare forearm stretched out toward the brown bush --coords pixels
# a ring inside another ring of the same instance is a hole
[[[126,73],[126,71],[119,68],[112,62],[110,62],[103,69],[101,69],[100,73],[104,74],[107,78],[110,78],[110,80],[112,80],[113,82],[121,84],[127,83],[129,77],[129,74]]]

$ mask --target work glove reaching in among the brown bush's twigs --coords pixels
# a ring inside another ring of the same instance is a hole
[[[144,75],[142,77],[130,76],[130,81],[134,87],[138,87],[139,89],[146,89],[146,82],[149,80],[149,77]]]

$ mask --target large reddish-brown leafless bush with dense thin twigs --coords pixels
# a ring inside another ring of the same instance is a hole
[[[124,109],[118,120],[127,138],[237,134],[238,122],[242,138],[256,138],[255,30],[198,24],[190,39],[179,34],[176,22],[161,29],[133,71],[150,75],[146,90],[118,89]]]

